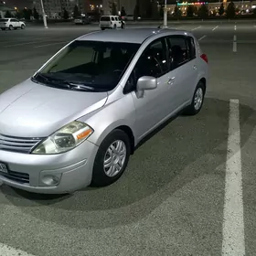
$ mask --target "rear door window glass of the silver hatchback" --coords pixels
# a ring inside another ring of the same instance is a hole
[[[189,49],[186,37],[168,37],[169,58],[172,69],[187,63],[189,60]]]

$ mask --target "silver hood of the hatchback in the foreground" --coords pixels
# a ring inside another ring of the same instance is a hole
[[[0,133],[47,137],[101,108],[107,97],[107,92],[61,90],[26,80],[0,95]]]

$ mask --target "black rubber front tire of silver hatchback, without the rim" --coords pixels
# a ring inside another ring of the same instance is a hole
[[[117,140],[123,141],[126,146],[126,159],[123,165],[122,170],[116,176],[107,176],[103,169],[104,156],[109,148],[109,146]],[[102,141],[99,146],[98,152],[96,154],[93,170],[92,170],[92,179],[91,186],[92,187],[104,187],[111,185],[115,181],[117,181],[126,169],[128,165],[129,158],[131,155],[131,143],[128,135],[124,133],[122,130],[113,130],[112,133],[109,133],[106,138]]]

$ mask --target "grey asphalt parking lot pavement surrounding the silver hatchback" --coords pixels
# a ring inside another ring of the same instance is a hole
[[[58,197],[0,187],[1,256],[256,255],[256,22],[169,27],[193,31],[208,55],[202,111],[166,123],[110,187]],[[0,31],[0,92],[95,29]]]

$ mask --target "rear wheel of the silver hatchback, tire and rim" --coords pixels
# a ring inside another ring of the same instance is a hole
[[[196,115],[202,109],[205,100],[206,87],[202,81],[197,83],[191,104],[187,107],[185,114]]]

